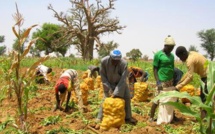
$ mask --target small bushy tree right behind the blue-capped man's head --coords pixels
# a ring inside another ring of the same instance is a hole
[[[99,58],[105,57],[110,54],[110,51],[119,47],[119,44],[114,43],[114,41],[109,41],[101,45],[96,45],[96,50],[98,51]]]

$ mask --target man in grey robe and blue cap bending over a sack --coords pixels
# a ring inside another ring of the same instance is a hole
[[[125,121],[135,124],[136,120],[131,115],[130,91],[126,83],[128,74],[127,62],[122,59],[122,54],[119,50],[111,51],[109,56],[101,60],[100,74],[104,88],[104,98],[123,98],[125,100]],[[103,111],[101,106],[97,121],[101,121],[102,117]]]

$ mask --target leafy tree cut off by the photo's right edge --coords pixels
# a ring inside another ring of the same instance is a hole
[[[198,32],[201,38],[201,47],[208,53],[208,57],[212,61],[215,56],[215,29],[202,30]]]

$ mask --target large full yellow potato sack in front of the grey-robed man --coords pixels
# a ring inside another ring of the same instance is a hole
[[[125,123],[125,101],[121,98],[106,98],[103,103],[101,130],[119,128]]]

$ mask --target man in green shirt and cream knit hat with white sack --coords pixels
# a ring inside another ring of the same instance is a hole
[[[164,40],[164,48],[154,55],[153,71],[157,85],[157,93],[168,92],[168,87],[173,85],[174,76],[174,55],[171,53],[175,46],[175,41],[171,36]],[[163,98],[159,102],[154,102],[150,111],[150,121],[153,121],[156,107],[159,103],[176,101],[176,98]],[[173,119],[173,107],[169,105],[159,105],[157,124],[170,123]]]

